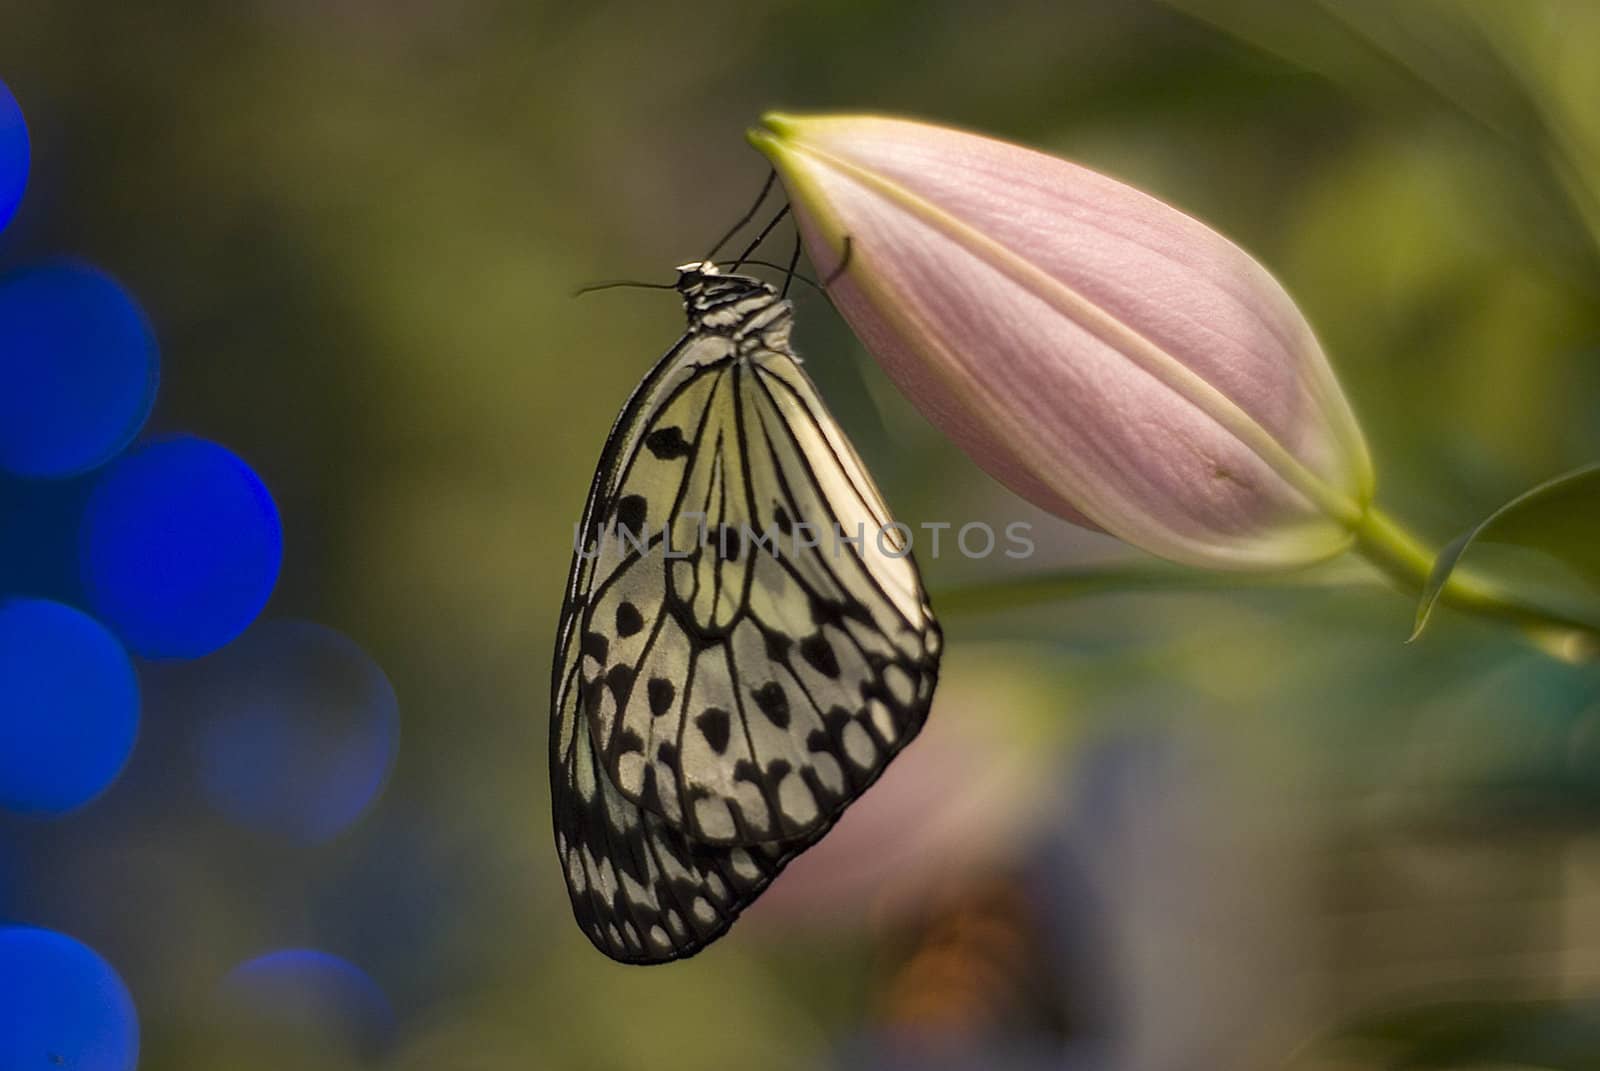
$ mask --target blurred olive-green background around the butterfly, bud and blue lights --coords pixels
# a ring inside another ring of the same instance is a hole
[[[8,914],[117,965],[147,1068],[1600,1066],[1600,677],[1448,613],[1406,647],[1376,583],[949,616],[928,738],[672,967],[582,938],[546,784],[571,525],[682,328],[672,295],[571,291],[699,256],[766,173],[762,110],[965,125],[1211,223],[1301,303],[1379,499],[1437,544],[1600,456],[1597,54],[1587,0],[0,5],[35,154],[0,259],[139,296],[150,432],[261,472],[269,616],[355,637],[403,720],[328,844],[120,784],[10,831]],[[1029,570],[1136,557],[998,488],[797,306],[901,520],[1030,520]],[[923,568],[938,605],[1002,565]],[[147,671],[139,748],[181,749],[184,668]],[[366,970],[382,1044],[219,1013],[280,946]],[[1458,997],[1493,1004],[1405,1015]],[[1373,1044],[1330,1044],[1349,1021]]]

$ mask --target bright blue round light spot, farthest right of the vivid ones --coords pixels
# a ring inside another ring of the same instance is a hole
[[[245,631],[283,562],[272,496],[229,450],[152,442],[107,466],[83,515],[90,607],[146,658],[198,658]]]

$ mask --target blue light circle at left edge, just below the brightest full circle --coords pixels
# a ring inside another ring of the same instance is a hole
[[[110,632],[58,602],[0,602],[0,807],[86,804],[122,772],[138,728],[139,680]]]

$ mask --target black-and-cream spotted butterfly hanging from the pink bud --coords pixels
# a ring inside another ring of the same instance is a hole
[[[942,645],[910,557],[760,279],[678,269],[688,330],[606,437],[550,684],[573,914],[693,956],[917,736]]]

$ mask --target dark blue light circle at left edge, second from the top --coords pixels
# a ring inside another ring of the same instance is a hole
[[[0,279],[0,469],[102,464],[139,434],[157,378],[150,325],[104,272],[51,261]]]

